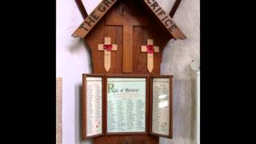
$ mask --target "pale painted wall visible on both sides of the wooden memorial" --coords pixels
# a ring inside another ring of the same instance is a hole
[[[85,0],[87,12],[100,0]],[[158,0],[166,12],[173,2]],[[174,138],[160,138],[161,144],[192,144],[194,142],[194,94],[190,62],[199,57],[199,0],[182,0],[174,20],[186,34],[186,40],[170,40],[163,53],[162,74],[174,75]],[[90,56],[79,38],[71,34],[81,24],[82,15],[74,0],[57,0],[56,61],[57,77],[63,78],[62,130],[63,144],[91,143],[82,141],[81,100],[82,74],[90,73]]]

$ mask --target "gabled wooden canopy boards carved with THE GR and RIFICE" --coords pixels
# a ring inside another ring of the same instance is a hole
[[[150,13],[154,15],[158,22],[161,23],[161,26],[164,27],[165,30],[168,31],[174,39],[186,38],[185,34],[182,33],[182,30],[180,30],[175,24],[174,20],[170,18],[170,15],[173,15],[175,10],[177,10],[177,5],[181,2],[180,0],[178,0],[174,4],[174,6],[176,6],[174,7],[174,10],[171,10],[170,14],[166,14],[166,12],[162,10],[161,6],[159,6],[158,2],[156,2],[155,0],[141,1],[142,3],[144,3],[144,6],[149,9]],[[94,26],[96,26],[96,24],[105,16],[105,14],[111,9],[112,6],[114,6],[116,2],[118,2],[118,0],[102,0],[102,2],[100,2],[98,6],[96,6],[96,8],[91,12],[90,15],[83,15],[84,17],[86,16],[84,22],[82,22],[78,29],[74,31],[74,34],[72,34],[72,36],[74,38],[85,38],[86,35],[90,33],[90,30],[92,30]]]

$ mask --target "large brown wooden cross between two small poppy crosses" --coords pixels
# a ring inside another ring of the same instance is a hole
[[[134,26],[148,26],[146,17],[132,17],[124,13],[106,18],[106,26],[122,26],[122,72],[133,73],[133,29]]]

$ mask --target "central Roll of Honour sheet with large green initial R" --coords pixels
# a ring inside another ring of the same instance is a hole
[[[106,134],[147,134],[147,77],[106,77]]]

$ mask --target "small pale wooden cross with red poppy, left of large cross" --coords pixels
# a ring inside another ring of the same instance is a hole
[[[111,51],[118,50],[118,46],[111,44],[111,38],[104,38],[104,44],[99,44],[98,50],[104,50],[104,67],[106,71],[109,71],[111,65]]]

